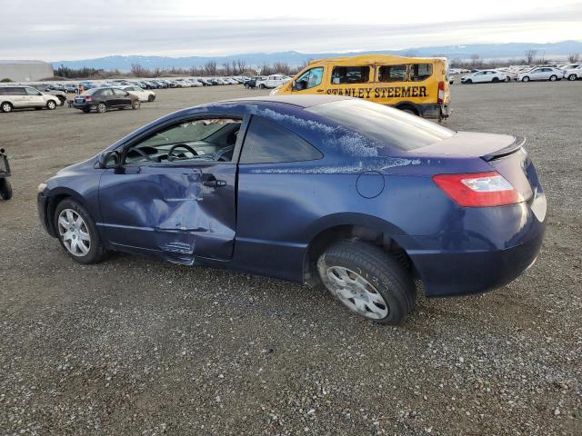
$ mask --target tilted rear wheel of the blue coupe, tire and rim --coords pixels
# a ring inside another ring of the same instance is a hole
[[[376,245],[338,241],[317,261],[326,289],[350,311],[382,324],[401,324],[414,307],[410,273]]]

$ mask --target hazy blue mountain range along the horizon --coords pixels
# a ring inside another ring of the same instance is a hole
[[[548,44],[477,44],[477,45],[437,45],[426,47],[413,47],[404,50],[376,50],[368,52],[349,53],[299,53],[295,51],[277,53],[252,53],[232,54],[226,56],[148,56],[148,55],[111,55],[94,59],[82,59],[75,61],[57,61],[53,66],[57,68],[65,65],[70,68],[102,68],[105,70],[129,71],[132,64],[141,64],[146,68],[189,68],[200,67],[209,61],[216,61],[218,66],[233,61],[242,60],[249,66],[262,64],[286,63],[291,66],[306,64],[310,59],[321,59],[336,56],[354,56],[357,54],[396,54],[413,56],[446,56],[448,59],[469,59],[477,54],[482,59],[523,59],[527,50],[536,50],[537,57],[545,59],[564,58],[567,54],[582,53],[582,42],[562,41]]]

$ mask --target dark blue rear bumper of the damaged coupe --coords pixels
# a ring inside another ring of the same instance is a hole
[[[499,219],[497,225],[487,229],[487,233],[497,233],[497,240],[468,228],[411,238],[416,247],[429,247],[406,250],[425,284],[427,297],[492,291],[512,282],[536,262],[546,230],[545,195],[539,193],[532,204],[501,207],[514,208],[506,211],[513,218],[519,214],[517,208],[521,209],[524,220],[507,232],[508,221]],[[479,248],[472,250],[468,248],[471,245]]]

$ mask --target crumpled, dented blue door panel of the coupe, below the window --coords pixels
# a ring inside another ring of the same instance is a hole
[[[101,177],[98,223],[113,245],[191,264],[228,260],[236,233],[236,163],[132,165]]]

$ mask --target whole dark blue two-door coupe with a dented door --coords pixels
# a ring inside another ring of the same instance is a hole
[[[41,183],[46,231],[109,252],[312,286],[402,323],[428,297],[487,292],[532,263],[546,197],[524,139],[454,132],[340,96],[203,104]]]

